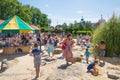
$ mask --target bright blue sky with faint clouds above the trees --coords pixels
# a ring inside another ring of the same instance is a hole
[[[108,20],[113,12],[120,15],[120,0],[18,0],[37,7],[52,20],[51,25],[84,20],[97,22],[101,14]]]

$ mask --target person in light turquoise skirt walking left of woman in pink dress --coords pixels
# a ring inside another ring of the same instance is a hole
[[[50,57],[50,53],[52,53],[52,57],[54,56],[54,45],[53,45],[53,39],[51,37],[51,35],[48,35],[48,40],[47,40],[47,52],[48,52],[48,55]]]

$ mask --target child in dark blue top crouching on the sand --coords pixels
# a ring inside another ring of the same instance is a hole
[[[95,60],[94,63],[88,65],[87,72],[91,72],[93,75],[98,75],[99,69],[97,68],[97,66],[98,66],[98,60]]]

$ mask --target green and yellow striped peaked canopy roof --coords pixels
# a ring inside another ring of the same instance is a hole
[[[0,30],[2,33],[28,33],[33,31],[33,29],[18,16],[10,17],[8,20],[3,22],[0,25]]]

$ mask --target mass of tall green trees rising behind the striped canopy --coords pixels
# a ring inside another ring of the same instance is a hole
[[[39,27],[50,26],[51,20],[38,8],[30,5],[22,5],[18,0],[0,0],[0,19],[6,20],[18,15],[25,22]]]

